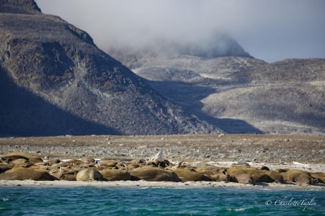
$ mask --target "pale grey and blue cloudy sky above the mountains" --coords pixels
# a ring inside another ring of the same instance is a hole
[[[227,33],[268,62],[325,58],[323,0],[36,0],[88,32],[99,48],[155,37],[202,40]]]

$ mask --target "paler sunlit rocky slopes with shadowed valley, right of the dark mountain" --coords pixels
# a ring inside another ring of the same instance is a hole
[[[123,63],[158,92],[225,132],[325,133],[325,59],[266,63],[190,53],[132,59]]]

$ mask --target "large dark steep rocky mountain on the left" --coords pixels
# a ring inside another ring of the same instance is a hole
[[[0,135],[222,132],[35,1],[0,0],[0,39]]]

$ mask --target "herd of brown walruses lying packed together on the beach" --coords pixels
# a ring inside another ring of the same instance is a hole
[[[252,168],[248,164],[216,167],[204,163],[191,166],[168,160],[96,161],[91,157],[43,160],[34,155],[9,153],[0,157],[0,180],[35,181],[233,181],[241,184],[254,182],[295,182],[297,184],[325,183],[325,173],[303,170],[276,169],[266,166]]]

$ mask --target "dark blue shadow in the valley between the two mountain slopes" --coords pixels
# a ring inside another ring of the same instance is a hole
[[[199,119],[207,121],[216,128],[228,133],[263,133],[263,131],[248,124],[241,119],[218,119],[202,111],[201,99],[216,92],[215,88],[208,86],[194,86],[179,81],[149,81],[148,84],[155,88],[160,95],[181,106],[185,111],[196,115]]]

